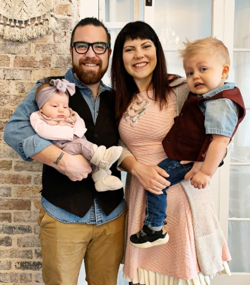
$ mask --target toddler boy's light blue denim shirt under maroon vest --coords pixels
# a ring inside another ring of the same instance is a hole
[[[201,97],[211,98],[223,90],[233,89],[234,83],[228,82],[215,88]],[[200,109],[205,116],[206,134],[217,134],[231,137],[238,121],[237,104],[227,98],[203,101]]]

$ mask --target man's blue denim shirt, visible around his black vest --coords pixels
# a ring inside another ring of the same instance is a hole
[[[94,100],[92,91],[81,84],[77,78],[73,76],[70,68],[66,74],[65,79],[69,82],[75,83],[79,88],[82,97],[86,100],[91,111],[93,121],[95,123],[99,108],[99,94],[104,90],[109,90],[109,87],[100,83],[96,101]],[[17,106],[16,110],[10,117],[4,129],[3,139],[11,146],[23,160],[31,161],[30,156],[40,152],[52,143],[49,140],[38,136],[30,125],[29,116],[32,112],[37,111],[38,107],[34,101],[35,90],[42,83],[42,79],[36,82],[36,85],[28,92],[27,97]],[[125,208],[125,201],[114,209],[108,216],[104,214],[98,205],[96,199],[89,211],[83,218],[77,217],[67,211],[64,211],[41,197],[41,204],[48,215],[63,223],[87,223],[100,225],[109,222],[121,215]]]

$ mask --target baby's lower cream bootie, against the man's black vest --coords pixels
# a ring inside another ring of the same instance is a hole
[[[111,173],[111,171],[108,171]],[[123,187],[122,181],[113,175],[108,175],[104,169],[99,169],[92,174],[94,187],[97,191],[117,190]]]

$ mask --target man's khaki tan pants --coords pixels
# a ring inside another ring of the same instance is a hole
[[[61,223],[41,207],[38,224],[45,285],[76,285],[83,259],[88,285],[116,285],[124,215],[99,226]]]

